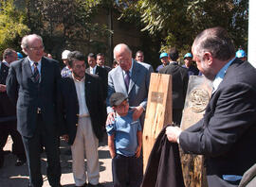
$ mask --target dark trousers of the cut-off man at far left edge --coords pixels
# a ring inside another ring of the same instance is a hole
[[[0,125],[0,157],[3,156],[3,148],[7,143],[8,136],[10,135],[12,139],[12,153],[16,155],[19,159],[25,160],[26,154],[24,145],[22,143],[22,138],[20,133],[17,131],[16,121],[5,122]]]

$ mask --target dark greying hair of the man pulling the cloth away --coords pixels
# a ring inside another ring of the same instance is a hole
[[[199,33],[193,48],[196,55],[202,58],[204,52],[210,52],[212,57],[227,60],[235,56],[235,47],[228,32],[222,27],[212,27]]]

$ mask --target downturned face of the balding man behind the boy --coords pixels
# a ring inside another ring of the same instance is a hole
[[[132,66],[132,53],[127,49],[121,49],[115,54],[119,66],[123,71],[130,70]]]

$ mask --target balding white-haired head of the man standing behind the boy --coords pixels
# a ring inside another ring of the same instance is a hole
[[[119,43],[114,48],[114,59],[117,59],[123,71],[128,71],[132,67],[132,51],[127,44]]]

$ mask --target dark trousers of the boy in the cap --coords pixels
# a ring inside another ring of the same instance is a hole
[[[114,187],[139,187],[143,168],[139,167],[139,159],[117,154],[112,160]]]

